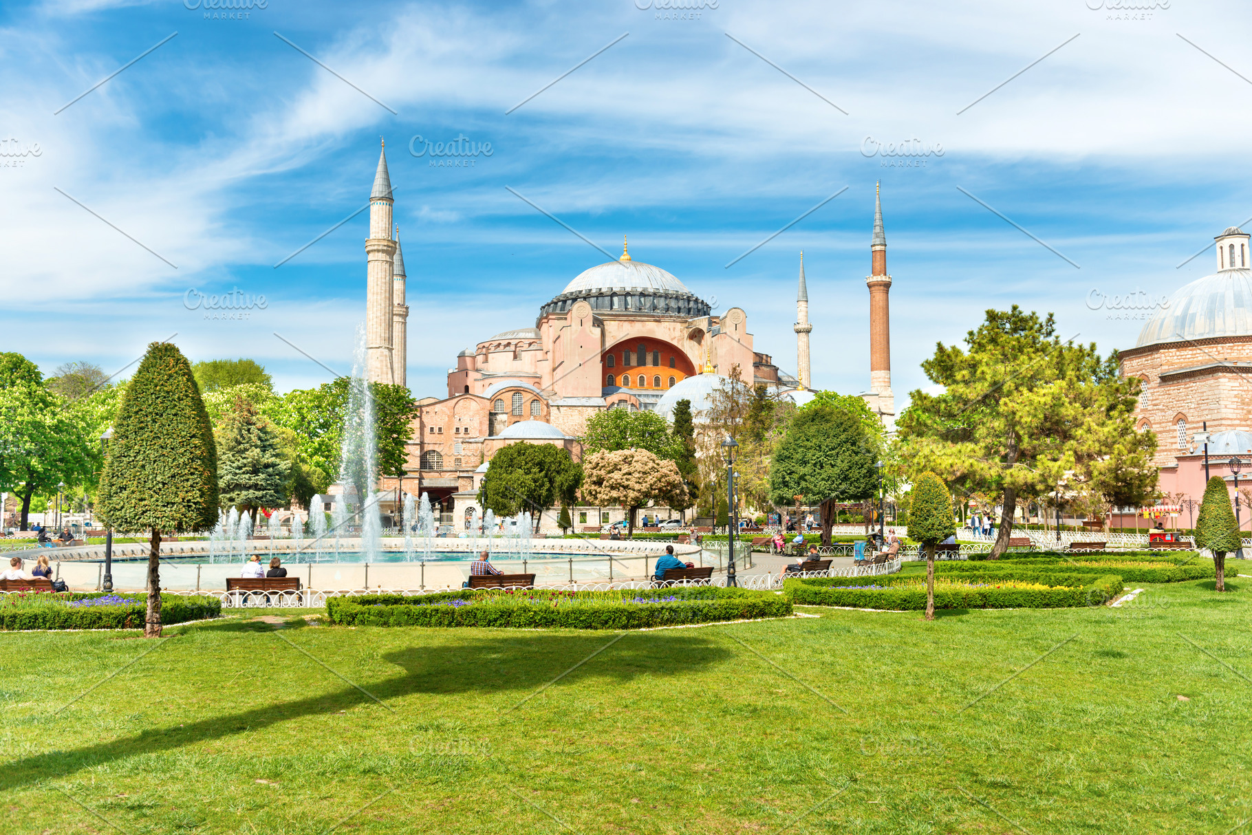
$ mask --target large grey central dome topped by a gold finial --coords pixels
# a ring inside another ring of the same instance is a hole
[[[622,248],[618,260],[585,269],[561,294],[540,308],[540,315],[563,313],[586,299],[596,313],[655,313],[659,315],[709,315],[711,308],[672,274],[631,260]]]

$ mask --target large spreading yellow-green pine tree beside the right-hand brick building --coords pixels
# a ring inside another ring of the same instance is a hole
[[[1062,342],[1052,314],[987,310],[965,349],[938,343],[921,368],[944,391],[909,394],[901,457],[910,473],[1000,497],[993,556],[1008,548],[1020,501],[1060,486],[1090,486],[1118,505],[1153,494],[1156,437],[1134,428],[1139,381],[1122,378],[1116,352]]]

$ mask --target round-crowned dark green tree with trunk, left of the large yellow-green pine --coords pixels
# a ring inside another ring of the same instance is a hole
[[[830,543],[836,502],[858,502],[878,489],[879,449],[855,411],[825,403],[799,409],[770,467],[770,501],[800,496],[821,506],[821,541]]]

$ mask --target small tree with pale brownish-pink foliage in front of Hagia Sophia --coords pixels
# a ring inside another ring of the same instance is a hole
[[[582,461],[582,501],[600,507],[626,508],[626,536],[635,535],[635,511],[649,502],[681,505],[687,501],[679,467],[647,449],[595,452]]]

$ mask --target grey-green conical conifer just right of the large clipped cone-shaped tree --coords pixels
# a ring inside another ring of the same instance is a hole
[[[292,464],[269,421],[237,397],[223,422],[218,448],[218,491],[224,505],[254,513],[260,507],[280,507],[287,501]]]

